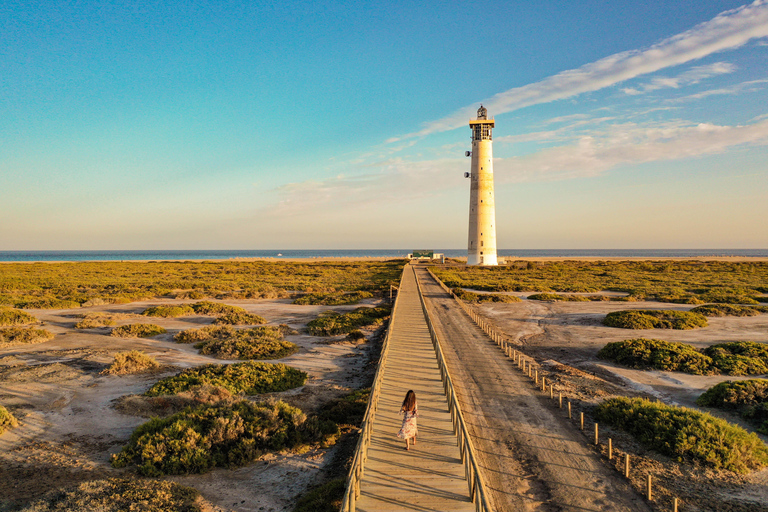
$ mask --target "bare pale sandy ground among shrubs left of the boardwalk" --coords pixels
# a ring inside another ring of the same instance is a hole
[[[131,315],[153,305],[184,302],[190,301],[151,300],[71,310],[28,310],[56,336],[46,343],[0,349],[0,403],[21,423],[0,436],[0,510],[3,506],[23,504],[52,489],[131,472],[112,468],[109,459],[146,418],[120,413],[114,402],[122,396],[143,393],[159,378],[182,368],[223,362],[198,354],[191,345],[172,341],[177,332],[209,324],[213,318],[129,317],[119,320],[117,325],[154,323],[168,333],[152,339],[122,339],[108,336],[110,328],[75,329],[76,315],[96,311]],[[288,324],[299,332],[322,310],[357,307],[297,306],[289,300],[226,303],[261,315],[270,325]],[[371,343],[330,344],[328,338],[307,334],[289,335],[287,339],[299,345],[300,351],[280,362],[307,372],[309,380],[301,388],[275,394],[279,398],[311,411],[363,385]],[[116,352],[133,349],[153,356],[162,369],[133,376],[99,374]],[[332,455],[333,449],[301,455],[266,455],[243,468],[171,479],[198,489],[216,510],[290,510],[297,495],[320,479]]]

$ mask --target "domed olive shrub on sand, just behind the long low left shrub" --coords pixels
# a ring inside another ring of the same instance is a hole
[[[220,359],[280,359],[298,352],[295,343],[283,339],[278,327],[254,327],[234,330],[223,338],[200,341],[201,354]]]

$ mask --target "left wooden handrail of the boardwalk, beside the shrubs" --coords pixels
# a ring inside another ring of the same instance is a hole
[[[400,275],[400,286],[398,289],[402,288],[404,274],[405,271]],[[349,474],[347,475],[347,489],[344,492],[344,499],[341,502],[340,512],[355,512],[355,503],[360,496],[360,480],[363,478],[365,461],[368,458],[368,446],[371,443],[371,433],[373,431],[373,418],[376,415],[376,410],[379,406],[381,381],[384,375],[383,369],[387,362],[387,354],[389,352],[389,336],[392,333],[392,325],[394,325],[395,322],[395,313],[397,313],[397,305],[399,302],[400,294],[398,293],[397,297],[395,297],[395,304],[392,306],[392,314],[389,317],[387,334],[384,337],[384,343],[381,346],[379,367],[376,369],[376,376],[373,378],[373,384],[371,385],[371,395],[368,398],[368,406],[365,409],[363,423],[360,426],[360,439],[357,440],[355,454],[352,458],[352,465],[349,468]]]

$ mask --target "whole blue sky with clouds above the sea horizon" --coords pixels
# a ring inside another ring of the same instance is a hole
[[[0,249],[768,247],[768,3],[0,5]]]

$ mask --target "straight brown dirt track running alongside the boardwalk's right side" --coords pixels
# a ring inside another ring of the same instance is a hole
[[[426,270],[417,273],[496,510],[649,511]]]

